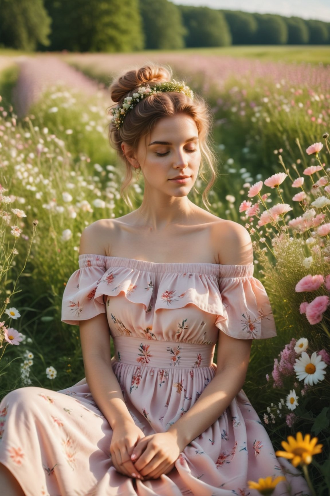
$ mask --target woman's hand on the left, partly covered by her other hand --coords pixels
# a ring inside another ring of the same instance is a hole
[[[143,479],[134,466],[131,455],[136,444],[144,437],[143,432],[135,423],[123,421],[113,428],[110,444],[110,454],[113,466],[123,475]]]

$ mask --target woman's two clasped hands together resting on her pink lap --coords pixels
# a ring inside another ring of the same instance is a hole
[[[174,434],[165,432],[144,436],[135,424],[114,429],[110,445],[115,469],[141,480],[158,479],[170,472],[180,452]]]

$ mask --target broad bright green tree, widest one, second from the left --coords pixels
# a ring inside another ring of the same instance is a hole
[[[138,0],[45,0],[52,18],[51,50],[141,50]]]

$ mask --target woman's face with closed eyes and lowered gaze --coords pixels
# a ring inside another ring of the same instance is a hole
[[[195,122],[186,114],[161,119],[149,135],[141,138],[135,158],[147,190],[187,196],[201,160]]]

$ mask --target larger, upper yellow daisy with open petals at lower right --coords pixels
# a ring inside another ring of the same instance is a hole
[[[297,465],[309,465],[312,461],[312,455],[321,453],[323,444],[316,444],[318,442],[317,437],[311,439],[310,434],[306,434],[302,437],[302,434],[297,433],[297,438],[289,435],[287,437],[288,442],[282,441],[282,446],[285,451],[277,451],[276,456],[283,456],[291,461],[292,465],[296,467]]]

